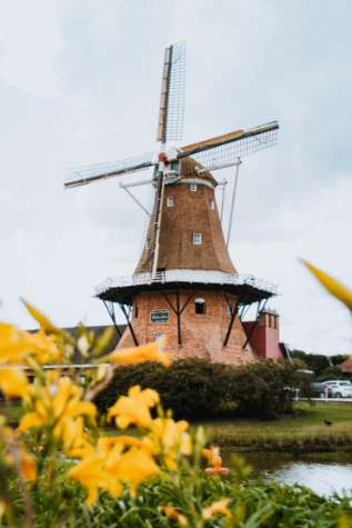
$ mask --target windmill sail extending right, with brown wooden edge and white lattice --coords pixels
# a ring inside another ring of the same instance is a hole
[[[275,145],[279,123],[273,121],[249,130],[235,130],[179,149],[178,158],[192,157],[207,170],[231,167],[238,158]]]

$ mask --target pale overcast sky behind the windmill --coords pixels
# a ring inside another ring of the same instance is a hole
[[[0,319],[32,327],[23,296],[109,323],[94,286],[132,272],[145,219],[118,181],[63,190],[64,168],[155,148],[163,49],[185,40],[185,143],[281,124],[241,166],[235,267],[279,285],[282,340],[351,351],[349,313],[298,260],[352,287],[351,20],[349,0],[2,0]]]

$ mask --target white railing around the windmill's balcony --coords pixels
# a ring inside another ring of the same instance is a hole
[[[152,273],[138,273],[128,277],[109,277],[101,285],[95,287],[95,296],[100,296],[111,288],[123,288],[129,286],[143,286],[168,282],[190,282],[204,285],[238,285],[252,286],[259,290],[278,293],[278,286],[266,280],[259,279],[252,275],[225,273],[212,270],[172,269]]]

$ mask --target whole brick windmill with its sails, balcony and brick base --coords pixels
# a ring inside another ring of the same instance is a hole
[[[182,148],[167,148],[181,139],[184,112],[185,48],[165,49],[158,124],[160,151],[112,163],[71,169],[66,187],[153,168],[151,180],[120,185],[149,216],[145,243],[131,277],[109,278],[95,293],[104,302],[119,331],[115,307],[127,328],[119,347],[142,345],[167,337],[174,357],[202,357],[241,363],[262,356],[251,346],[251,335],[275,287],[241,276],[228,251],[235,186],[225,242],[215,200],[214,170],[235,167],[241,157],[274,145],[278,122],[237,130]],[[152,185],[149,211],[131,188]],[[242,325],[245,308],[258,305],[252,325]]]

